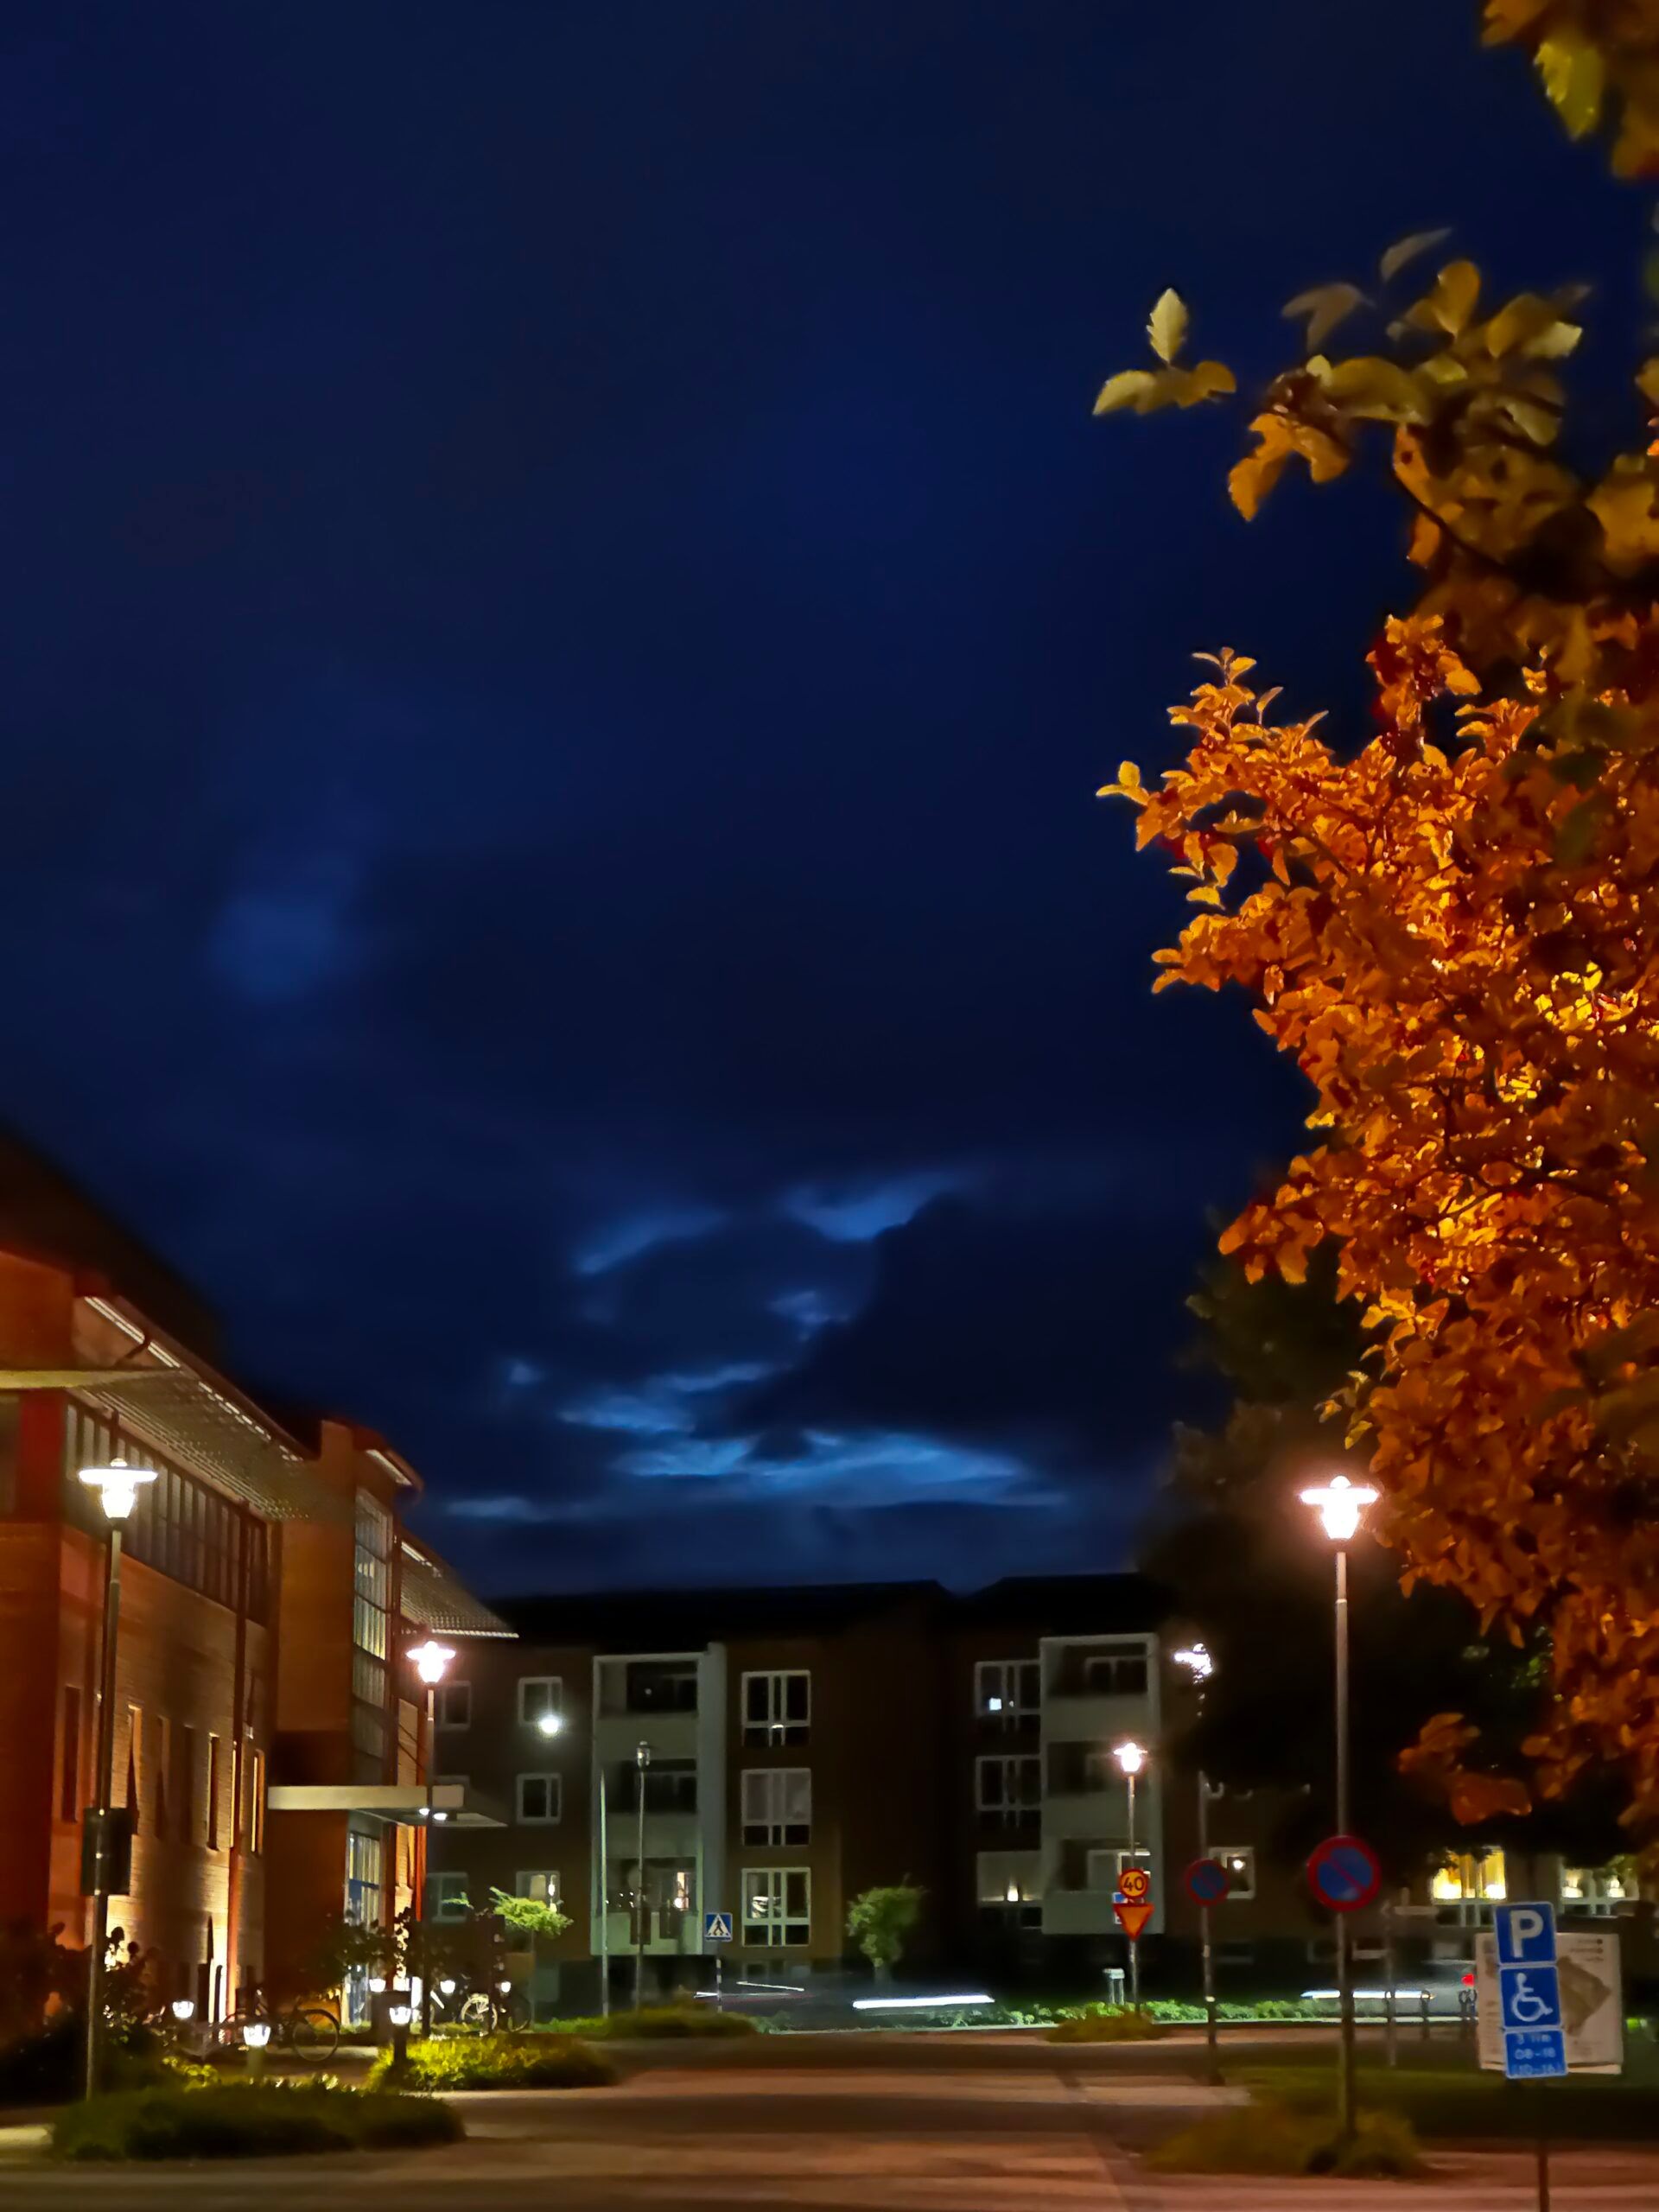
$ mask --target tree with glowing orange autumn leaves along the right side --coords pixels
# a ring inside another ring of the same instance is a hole
[[[1608,124],[1619,173],[1659,168],[1659,0],[1491,0],[1484,27],[1575,135]],[[1440,237],[1391,248],[1383,290]],[[1449,261],[1345,358],[1329,341],[1374,301],[1292,301],[1305,358],[1230,478],[1250,518],[1292,465],[1385,456],[1422,586],[1369,655],[1374,734],[1274,721],[1221,653],[1172,717],[1188,759],[1108,790],[1210,909],[1159,989],[1241,984],[1314,1091],[1316,1141],[1223,1250],[1301,1281],[1336,1243],[1367,1349],[1334,1411],[1407,1582],[1546,1632],[1542,1790],[1613,1765],[1659,1838],[1659,440],[1568,467],[1582,294],[1480,292]],[[1155,365],[1097,411],[1230,396],[1223,363],[1181,367],[1186,323],[1166,294]],[[1635,380],[1652,416],[1659,358]],[[1469,1745],[1442,1714],[1416,1765],[1469,1818],[1520,1807]]]

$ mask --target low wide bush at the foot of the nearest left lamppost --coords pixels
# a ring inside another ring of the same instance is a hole
[[[467,2130],[431,2097],[234,2081],[115,2090],[58,2115],[60,2159],[268,2159],[307,2150],[458,2143]]]

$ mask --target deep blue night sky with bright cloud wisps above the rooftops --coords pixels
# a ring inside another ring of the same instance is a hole
[[[1126,1557],[1298,1093],[1093,794],[1194,648],[1358,712],[1409,584],[1088,409],[1438,221],[1628,319],[1473,24],[4,11],[0,1113],[484,1590]]]

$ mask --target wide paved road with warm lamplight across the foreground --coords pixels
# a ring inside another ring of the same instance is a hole
[[[1168,2053],[1168,2055],[1166,2055]],[[1137,2143],[1214,2108],[1175,2053],[1066,2053],[1000,2037],[867,2037],[737,2055],[657,2053],[611,2090],[456,2099],[469,2141],[398,2157],[237,2168],[42,2168],[0,2146],[4,2212],[1531,2212],[1517,2154],[1442,2157],[1387,2183],[1164,2179]],[[1659,2154],[1557,2157],[1555,2212],[1655,2212]]]

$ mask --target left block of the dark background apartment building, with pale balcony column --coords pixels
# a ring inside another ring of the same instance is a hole
[[[555,1902],[571,1931],[522,1966],[542,2008],[586,2002],[606,1960],[630,1986],[639,1916],[648,1989],[697,1980],[710,1911],[734,1916],[739,1971],[834,1964],[860,1889],[914,1876],[938,1893],[940,1597],[502,1601],[515,1641],[469,1646],[434,1772],[507,1827],[434,1834],[434,1918],[491,1889]]]

